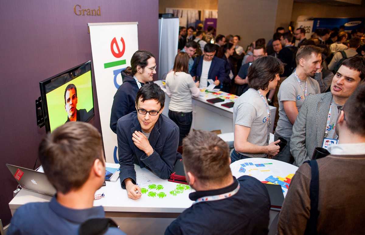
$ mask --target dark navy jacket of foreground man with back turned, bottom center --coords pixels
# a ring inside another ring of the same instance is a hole
[[[234,178],[234,177],[233,177]],[[223,189],[196,191],[189,194],[193,201],[200,197],[228,193],[236,194],[217,201],[203,201],[183,211],[165,235],[180,234],[268,234],[270,198],[268,190],[251,176],[241,176]]]

